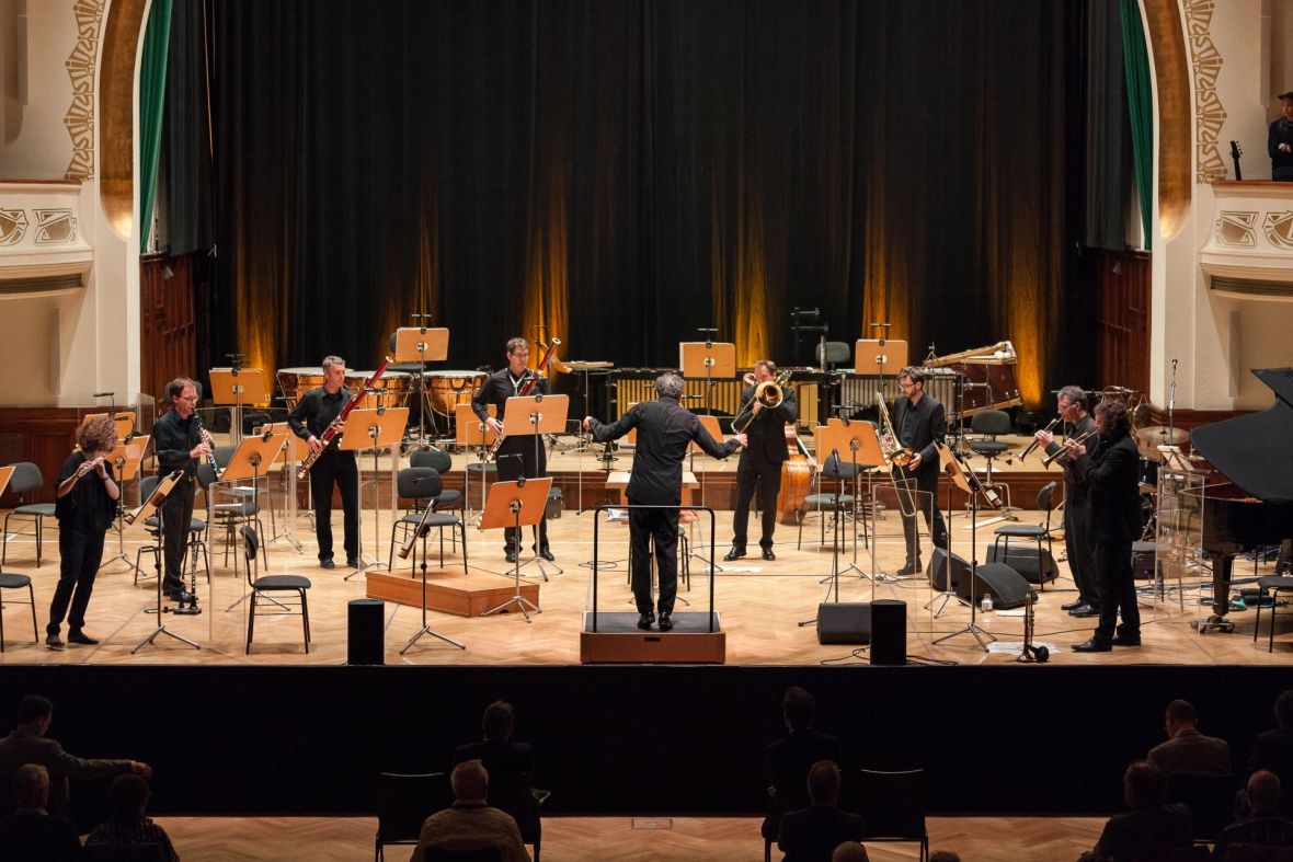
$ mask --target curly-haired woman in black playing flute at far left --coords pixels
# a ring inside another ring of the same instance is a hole
[[[49,604],[45,645],[58,649],[63,615],[67,615],[69,644],[97,644],[85,633],[85,607],[94,589],[94,574],[103,557],[103,535],[112,526],[116,499],[122,490],[112,476],[107,454],[116,443],[111,416],[92,419],[78,434],[79,451],[72,452],[58,472],[54,514],[58,517],[58,585]],[[71,613],[69,613],[71,604]]]

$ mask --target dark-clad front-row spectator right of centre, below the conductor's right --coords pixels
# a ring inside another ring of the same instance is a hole
[[[768,779],[768,814],[763,818],[763,837],[777,837],[781,815],[808,808],[804,779],[818,760],[840,762],[842,746],[837,737],[812,729],[812,695],[793,685],[781,698],[781,719],[786,735],[768,746],[764,772]]]

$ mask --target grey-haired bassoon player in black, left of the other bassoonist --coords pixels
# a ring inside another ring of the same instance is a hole
[[[312,452],[322,452],[310,468],[310,496],[314,498],[314,534],[319,541],[319,566],[336,569],[332,562],[332,487],[341,494],[341,522],[345,531],[345,565],[359,567],[359,467],[353,451],[341,451],[345,423],[325,447],[323,433],[341,414],[353,393],[345,388],[345,359],[326,357],[323,385],[301,395],[287,417],[292,433],[305,441]]]

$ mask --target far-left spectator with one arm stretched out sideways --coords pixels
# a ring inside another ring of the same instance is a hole
[[[88,781],[122,773],[151,775],[153,769],[137,760],[83,760],[54,739],[47,739],[54,721],[54,704],[39,694],[18,703],[18,726],[0,739],[0,815],[13,810],[13,777],[23,764],[40,764],[49,770],[49,813],[67,818],[67,779]]]

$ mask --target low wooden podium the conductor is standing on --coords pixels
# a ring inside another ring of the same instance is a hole
[[[727,662],[727,632],[714,614],[681,611],[672,615],[674,629],[637,628],[637,614],[599,613],[592,631],[592,611],[583,614],[579,632],[579,663],[631,664],[723,664]]]

